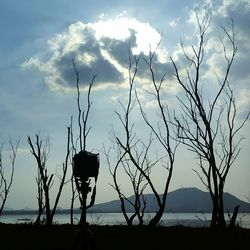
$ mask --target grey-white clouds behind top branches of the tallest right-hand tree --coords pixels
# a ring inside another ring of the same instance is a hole
[[[232,35],[232,22],[234,21],[235,44],[237,53],[234,59],[232,68],[229,74],[229,82],[234,90],[236,104],[239,110],[239,118],[241,119],[249,111],[249,65],[250,59],[247,51],[250,50],[250,30],[248,28],[250,22],[250,3],[249,1],[222,1],[215,2],[205,1],[207,6],[211,8],[212,20],[209,29],[206,33],[205,57],[203,58],[200,80],[203,84],[203,93],[205,100],[211,100],[218,90],[220,80],[223,80],[226,74],[227,61],[224,57],[223,46],[220,38],[223,39],[226,46],[227,55],[230,56],[232,48],[227,35],[221,27],[225,27],[227,32]],[[199,6],[198,6],[199,7]],[[201,14],[204,14],[204,8],[201,9]],[[181,24],[179,24],[180,26]],[[192,46],[197,47],[197,25],[196,15],[194,10],[189,12],[189,17],[186,20],[187,30],[183,34],[183,47],[190,58],[194,58]],[[178,26],[178,28],[179,28]],[[192,39],[188,32],[192,31]],[[176,46],[172,52],[172,58],[179,68],[179,74],[185,81],[186,71],[188,68],[187,58],[183,55],[183,50],[180,46]]]

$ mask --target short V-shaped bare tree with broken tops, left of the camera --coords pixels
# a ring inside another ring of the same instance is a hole
[[[67,136],[68,136],[68,141],[67,141],[66,157],[62,166],[62,177],[59,183],[59,188],[55,197],[53,207],[51,206],[50,189],[54,183],[54,179],[53,179],[54,174],[49,174],[48,167],[47,167],[47,161],[48,161],[48,156],[50,152],[50,143],[48,139],[46,139],[44,143],[43,140],[40,139],[39,135],[36,135],[36,140],[33,143],[30,136],[28,136],[28,144],[30,146],[30,152],[36,159],[37,167],[39,171],[39,174],[38,174],[39,177],[37,179],[39,213],[41,212],[40,209],[42,210],[44,209],[43,201],[42,201],[43,196],[41,194],[41,189],[42,189],[43,195],[44,195],[44,207],[45,207],[47,225],[51,225],[53,223],[53,218],[56,213],[57,205],[61,197],[63,186],[65,185],[65,181],[66,181],[68,160],[69,160],[69,155],[70,155],[70,128],[69,127],[68,127]]]

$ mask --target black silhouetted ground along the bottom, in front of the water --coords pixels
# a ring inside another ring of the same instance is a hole
[[[0,224],[1,250],[69,250],[77,227]],[[91,226],[98,250],[248,249],[250,230],[209,228]]]

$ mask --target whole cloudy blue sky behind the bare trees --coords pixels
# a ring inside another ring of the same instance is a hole
[[[100,153],[96,202],[117,199],[102,151],[103,145],[107,149],[111,146],[112,131],[119,135],[123,133],[115,111],[121,112],[118,100],[122,103],[127,100],[129,48],[133,55],[148,55],[150,49],[158,48],[157,74],[166,73],[163,98],[171,108],[178,110],[176,96],[181,90],[173,78],[170,57],[178,65],[183,65],[180,41],[187,51],[196,44],[194,10],[197,8],[201,11],[209,8],[212,12],[204,71],[208,99],[224,69],[221,26],[230,28],[231,19],[234,20],[238,51],[230,72],[230,83],[237,103],[237,122],[240,122],[250,109],[249,0],[1,0],[0,143],[4,143],[2,154],[7,176],[9,138],[20,138],[7,207],[37,207],[37,168],[29,151],[28,135],[33,139],[35,134],[41,138],[49,137],[51,148],[47,164],[51,173],[60,175],[66,152],[67,126],[71,116],[74,124],[77,117],[76,76],[72,60],[80,74],[83,108],[86,108],[86,89],[96,75],[91,92],[91,131],[87,144],[89,151]],[[157,111],[152,96],[148,95],[149,82],[147,69],[142,64],[136,86],[145,111],[153,119]],[[139,114],[132,114],[131,119],[138,136],[147,134]],[[243,200],[250,196],[249,129],[250,122],[247,121],[240,131],[245,138],[241,152],[225,186],[226,192]],[[197,169],[195,156],[185,147],[180,147],[169,191],[193,186],[205,190],[193,169]],[[122,188],[129,195],[129,185],[123,175],[121,172]],[[160,192],[162,170],[153,178]],[[57,183],[55,179],[55,190]],[[69,207],[70,198],[67,185],[60,206]]]

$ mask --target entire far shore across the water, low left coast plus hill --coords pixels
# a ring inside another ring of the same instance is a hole
[[[153,194],[145,194],[144,198],[147,200],[147,207],[145,213],[155,213],[159,207],[155,201]],[[132,203],[135,197],[128,198]],[[250,213],[250,203],[242,201],[237,197],[224,193],[224,211],[225,213],[232,213],[235,206],[240,206],[239,213]],[[133,213],[134,208],[131,204],[125,202],[126,212]],[[165,213],[212,213],[213,204],[210,194],[199,190],[198,188],[180,188],[168,193],[166,201]],[[74,208],[74,214],[80,213],[80,208]],[[121,213],[121,201],[112,200],[104,203],[95,204],[88,209],[88,213]],[[57,214],[70,214],[69,208],[58,207]],[[3,215],[31,215],[38,214],[37,209],[11,209],[7,208],[3,211]]]

